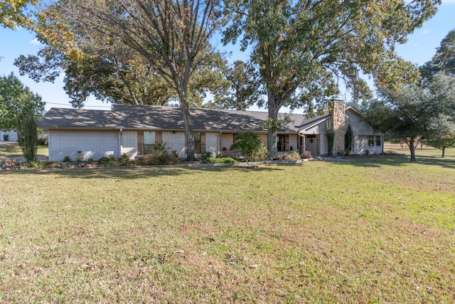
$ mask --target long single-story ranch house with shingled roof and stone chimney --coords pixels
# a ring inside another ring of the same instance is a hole
[[[360,112],[345,109],[342,102],[333,105],[325,115],[290,115],[291,122],[277,133],[279,154],[293,150],[310,151],[314,156],[327,154],[329,124],[338,130],[334,151],[344,151],[344,135],[350,125],[353,154],[383,152],[382,134],[363,122]],[[247,130],[267,142],[267,112],[192,108],[191,115],[198,154],[229,154],[237,133]],[[114,104],[112,110],[51,108],[38,127],[48,130],[48,155],[54,161],[62,161],[65,156],[97,160],[112,154],[117,159],[124,153],[134,159],[153,150],[156,142],[164,142],[169,151],[186,157],[181,108],[122,104]]]

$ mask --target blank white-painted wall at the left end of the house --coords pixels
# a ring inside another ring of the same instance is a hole
[[[80,151],[80,153],[78,152]],[[114,155],[119,157],[119,132],[112,130],[50,130],[49,160],[61,162],[65,156],[75,160],[98,160]]]

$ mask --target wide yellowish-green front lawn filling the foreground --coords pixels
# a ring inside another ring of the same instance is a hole
[[[0,182],[0,302],[455,301],[453,158]]]

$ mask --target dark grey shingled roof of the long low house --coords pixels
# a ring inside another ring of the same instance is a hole
[[[284,115],[284,114],[280,114]],[[307,118],[292,114],[279,132],[298,132],[305,125],[328,115]],[[193,130],[266,132],[267,112],[192,108]],[[112,110],[51,108],[38,123],[43,129],[184,130],[181,108],[158,105],[116,104]]]

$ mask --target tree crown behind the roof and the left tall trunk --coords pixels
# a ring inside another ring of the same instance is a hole
[[[38,23],[41,31],[50,31],[48,23]],[[75,23],[73,31],[87,31],[92,23]],[[80,28],[82,27],[82,28]],[[177,96],[156,69],[140,53],[122,43],[109,43],[103,36],[92,33],[82,54],[74,58],[67,54],[66,46],[52,45],[45,37],[45,47],[36,56],[19,56],[14,64],[21,75],[39,81],[53,82],[64,72],[64,90],[74,108],[82,108],[90,95],[97,100],[135,105],[168,105]],[[63,49],[59,49],[62,48]],[[208,52],[207,49],[204,52]],[[189,85],[189,102],[199,106],[207,90],[216,92],[223,79],[218,65],[224,65],[218,53],[205,53],[205,61],[192,75]],[[210,79],[210,81],[208,81]],[[218,81],[217,81],[218,80]]]

